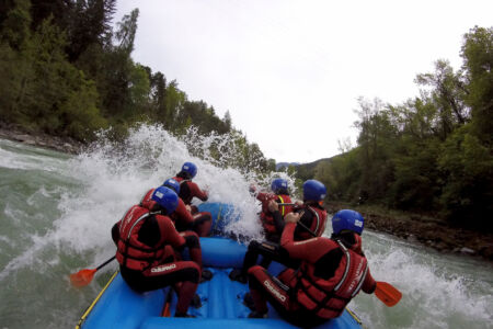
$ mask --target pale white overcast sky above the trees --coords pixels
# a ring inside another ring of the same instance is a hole
[[[276,161],[311,162],[356,144],[357,98],[397,104],[462,36],[493,25],[493,1],[119,0],[139,8],[133,57],[176,79]]]

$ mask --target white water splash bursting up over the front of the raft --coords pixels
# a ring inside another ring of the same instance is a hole
[[[200,149],[200,159],[192,156],[186,143],[170,135],[160,126],[142,125],[130,132],[124,147],[107,139],[101,139],[90,150],[70,160],[72,177],[83,182],[77,195],[64,195],[59,208],[61,218],[55,222],[56,240],[66,248],[84,253],[96,251],[102,254],[114,252],[110,237],[111,227],[142,195],[171,177],[174,177],[185,161],[198,167],[194,181],[209,192],[209,202],[233,204],[241,220],[229,229],[251,238],[261,238],[257,222],[259,203],[250,195],[252,178],[237,169],[225,166],[234,156],[232,136],[198,136],[191,129],[187,143],[194,140]],[[223,149],[219,160],[213,158],[208,147]],[[220,147],[217,147],[220,145]],[[222,160],[221,160],[222,159]],[[213,163],[214,162],[214,163]],[[277,173],[286,177],[285,173]],[[270,178],[265,178],[270,181]],[[293,183],[293,179],[289,178]],[[194,202],[199,203],[198,200]]]

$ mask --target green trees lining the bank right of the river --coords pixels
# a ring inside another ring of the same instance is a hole
[[[417,75],[420,97],[403,104],[359,99],[357,147],[311,172],[330,200],[493,229],[493,29],[471,29],[461,56],[459,71],[437,60]]]

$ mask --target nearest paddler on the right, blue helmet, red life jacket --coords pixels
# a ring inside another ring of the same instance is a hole
[[[277,277],[264,268],[249,270],[254,310],[253,318],[267,316],[267,304],[289,322],[301,327],[318,326],[339,317],[360,290],[375,292],[368,261],[362,251],[364,218],[354,211],[340,211],[332,218],[332,237],[295,240],[300,214],[285,217],[280,245],[289,257],[301,261],[299,270],[287,269]]]

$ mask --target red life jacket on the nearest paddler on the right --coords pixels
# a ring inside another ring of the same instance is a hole
[[[341,248],[343,258],[334,276],[326,280],[318,277],[314,275],[316,264],[302,262],[295,285],[298,303],[324,319],[339,317],[343,313],[347,303],[362,288],[368,273],[368,261],[364,256],[347,249],[339,240],[335,243],[328,253]]]

